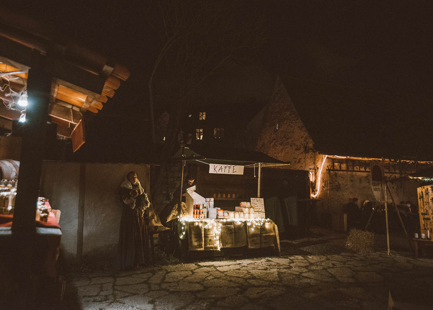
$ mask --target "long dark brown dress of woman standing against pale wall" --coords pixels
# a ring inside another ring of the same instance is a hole
[[[131,184],[132,189],[140,193],[138,184]],[[131,189],[120,187],[120,199],[123,203],[122,218],[120,220],[120,233],[118,245],[118,257],[115,268],[129,269],[136,268],[147,262],[148,252],[148,227],[146,218],[145,194],[131,198]]]

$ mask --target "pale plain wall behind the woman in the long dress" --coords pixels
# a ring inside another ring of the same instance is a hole
[[[122,208],[119,187],[128,171],[136,171],[145,191],[149,191],[149,165],[77,164],[44,161],[41,194],[54,209],[61,210],[61,253],[68,260],[77,257],[80,168],[85,166],[83,258],[114,257],[119,240]]]

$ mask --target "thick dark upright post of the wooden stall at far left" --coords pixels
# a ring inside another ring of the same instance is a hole
[[[13,214],[13,259],[14,281],[19,293],[11,296],[15,309],[34,307],[36,289],[40,285],[33,276],[38,239],[36,238],[36,207],[42,172],[45,146],[45,131],[48,120],[48,105],[51,94],[51,74],[47,57],[34,52],[32,67],[27,80],[26,122],[23,123],[20,168],[16,203]],[[45,253],[44,253],[45,254]],[[43,265],[40,267],[43,268]]]

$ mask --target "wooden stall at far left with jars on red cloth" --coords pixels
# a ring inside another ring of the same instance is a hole
[[[0,233],[0,304],[34,309],[47,288],[55,289],[55,268],[48,268],[49,283],[39,275],[45,274],[45,257],[55,266],[61,239],[58,225],[49,226],[51,211],[39,218],[35,214],[42,160],[61,157],[66,139],[74,152],[85,143],[85,124],[129,71],[19,7],[0,8],[0,16],[0,159],[12,165],[10,172],[19,160],[13,218],[3,216]]]

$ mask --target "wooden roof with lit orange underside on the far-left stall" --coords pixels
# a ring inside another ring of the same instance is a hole
[[[74,152],[85,142],[91,118],[114,96],[129,71],[100,53],[66,38],[58,27],[0,8],[0,129],[25,120],[27,80],[35,52],[49,57],[52,71],[48,120]]]

